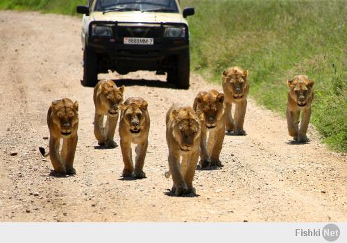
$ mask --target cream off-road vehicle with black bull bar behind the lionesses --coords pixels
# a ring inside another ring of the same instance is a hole
[[[83,15],[83,85],[93,87],[108,70],[167,73],[167,82],[189,87],[189,30],[179,0],[89,0]]]

